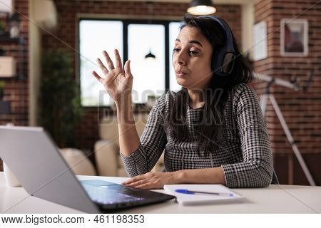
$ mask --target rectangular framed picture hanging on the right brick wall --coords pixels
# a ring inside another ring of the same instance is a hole
[[[280,21],[281,56],[302,57],[308,54],[307,19],[282,19]]]

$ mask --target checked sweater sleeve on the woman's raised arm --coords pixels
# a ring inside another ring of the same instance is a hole
[[[151,171],[165,148],[167,139],[163,128],[163,116],[159,109],[161,102],[163,102],[163,97],[156,101],[148,114],[138,149],[129,156],[120,152],[129,177],[143,175]]]

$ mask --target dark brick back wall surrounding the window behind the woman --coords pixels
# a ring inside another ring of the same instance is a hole
[[[146,2],[137,1],[55,1],[58,11],[58,28],[55,36],[44,34],[43,48],[66,48],[76,58],[77,53],[73,51],[76,47],[76,14],[130,14],[130,15],[147,15],[148,5]],[[155,3],[153,11],[156,16],[182,16],[188,4],[179,3]],[[223,17],[232,27],[235,37],[240,43],[240,6],[239,5],[218,5],[218,16]],[[69,48],[63,42],[66,42]],[[90,44],[88,44],[90,45]],[[75,75],[75,77],[77,77]],[[76,130],[76,146],[82,150],[93,151],[93,144],[98,140],[98,123],[99,117],[97,108],[85,108],[85,116],[82,123]]]

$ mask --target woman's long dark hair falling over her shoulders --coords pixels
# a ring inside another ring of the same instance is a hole
[[[214,19],[185,16],[184,24],[180,27],[180,30],[185,26],[196,27],[200,30],[213,47],[213,56],[217,54],[218,49],[225,42],[225,31]],[[203,91],[205,105],[202,109],[202,120],[197,125],[194,125],[195,133],[199,135],[199,143],[196,148],[198,153],[200,153],[200,150],[214,152],[218,148],[220,140],[223,138],[220,137],[224,126],[223,111],[230,91],[234,86],[240,83],[250,83],[253,79],[250,66],[248,66],[245,58],[240,53],[234,36],[233,45],[235,63],[232,73],[225,77],[215,76],[214,74],[209,88],[205,88]],[[186,88],[182,88],[176,93],[175,100],[170,100],[170,113],[167,117],[166,125],[175,137],[180,140],[188,140],[189,133],[186,117],[189,103],[190,97]]]

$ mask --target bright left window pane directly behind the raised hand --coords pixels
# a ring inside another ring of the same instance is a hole
[[[101,73],[96,59],[102,57],[101,51],[113,53],[118,48],[123,59],[123,22],[81,20],[79,23],[81,104],[83,106],[111,105],[113,100],[105,88],[91,74]],[[111,55],[115,62],[115,58]]]

